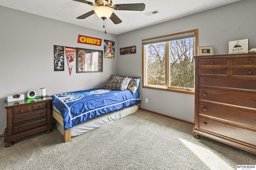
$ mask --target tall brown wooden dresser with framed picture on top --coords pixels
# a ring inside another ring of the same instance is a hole
[[[256,153],[256,53],[194,59],[194,137]]]

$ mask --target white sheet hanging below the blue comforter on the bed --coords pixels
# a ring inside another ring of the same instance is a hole
[[[53,109],[59,113],[59,111],[56,108],[53,107]],[[110,113],[106,113],[104,115],[100,115],[93,119],[84,121],[83,123],[80,123],[79,125],[76,125],[75,127],[71,128],[71,137],[82,135],[83,133],[86,133],[98,127],[107,125],[108,123],[111,123],[115,120],[121,119],[127,115],[135,113],[137,110],[138,110],[137,105],[132,105],[132,106],[128,106],[120,110],[112,111]],[[56,120],[55,120],[55,123],[60,133],[64,135],[64,127]]]

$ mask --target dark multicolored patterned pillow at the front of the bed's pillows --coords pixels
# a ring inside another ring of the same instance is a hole
[[[124,90],[125,84],[127,82],[127,77],[114,77],[112,78],[105,89],[111,89],[111,90]]]

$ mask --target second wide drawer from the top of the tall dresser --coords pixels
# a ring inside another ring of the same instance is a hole
[[[255,92],[199,88],[198,99],[237,106],[256,108]]]

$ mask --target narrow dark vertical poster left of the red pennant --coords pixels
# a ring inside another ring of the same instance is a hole
[[[54,45],[54,71],[64,71],[64,46]]]

